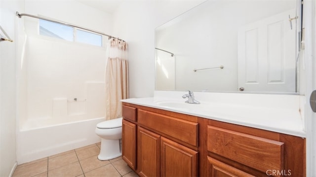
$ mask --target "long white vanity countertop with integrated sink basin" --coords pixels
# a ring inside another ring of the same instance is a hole
[[[195,93],[195,98],[200,104],[187,104],[181,97],[183,94],[186,92],[155,91],[155,97],[121,101],[306,137],[298,95]]]

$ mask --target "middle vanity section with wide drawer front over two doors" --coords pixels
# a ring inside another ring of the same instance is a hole
[[[198,152],[190,147],[197,148],[198,123],[145,109],[137,112],[139,174],[197,176]]]

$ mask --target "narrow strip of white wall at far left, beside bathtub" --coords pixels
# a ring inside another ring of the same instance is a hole
[[[0,42],[0,177],[12,175],[16,165],[15,11],[23,7],[20,1],[0,1],[0,25],[14,41]]]

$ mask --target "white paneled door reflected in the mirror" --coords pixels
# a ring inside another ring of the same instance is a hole
[[[295,10],[247,24],[238,30],[238,88],[295,92],[296,36],[288,16]],[[292,20],[295,27],[295,20]]]

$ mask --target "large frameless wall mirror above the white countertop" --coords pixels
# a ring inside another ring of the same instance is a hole
[[[158,27],[156,90],[297,94],[297,3],[207,0]]]

